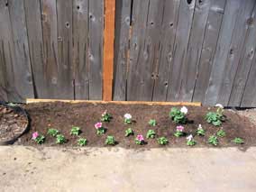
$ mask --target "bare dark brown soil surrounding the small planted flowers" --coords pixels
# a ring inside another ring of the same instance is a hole
[[[176,123],[169,119],[169,105],[114,105],[114,104],[76,104],[67,103],[41,103],[24,106],[31,118],[31,129],[29,133],[23,135],[18,144],[36,145],[32,141],[32,133],[37,131],[46,136],[44,146],[56,146],[55,139],[47,135],[49,128],[58,129],[64,134],[69,142],[62,146],[78,146],[78,137],[70,136],[70,129],[73,125],[79,126],[82,130],[80,137],[87,138],[87,146],[105,146],[107,135],[113,135],[118,142],[117,146],[124,148],[155,148],[161,147],[156,139],[145,139],[145,145],[136,145],[135,135],[142,134],[146,138],[149,129],[155,130],[157,137],[165,136],[169,140],[166,147],[187,147],[186,137],[176,138],[173,136]],[[208,111],[215,111],[215,108],[206,107],[187,107],[189,123],[185,124],[187,134],[196,135],[197,126],[202,124],[206,130],[206,136],[195,136],[197,145],[195,147],[212,146],[207,143],[208,137],[215,134],[219,128],[206,123],[204,119]],[[107,132],[104,135],[96,135],[94,124],[99,122],[101,114],[107,109],[108,113],[113,115],[110,123],[104,123]],[[123,123],[123,114],[133,115],[135,123],[127,125]],[[223,129],[226,133],[224,138],[219,138],[218,147],[240,146],[243,149],[256,145],[256,129],[246,117],[239,116],[230,111],[225,111],[226,121],[223,123]],[[148,122],[150,119],[156,119],[157,126],[151,127]],[[124,137],[124,131],[131,127],[135,133],[134,136]],[[241,137],[245,143],[235,145],[231,142],[235,137]]]

